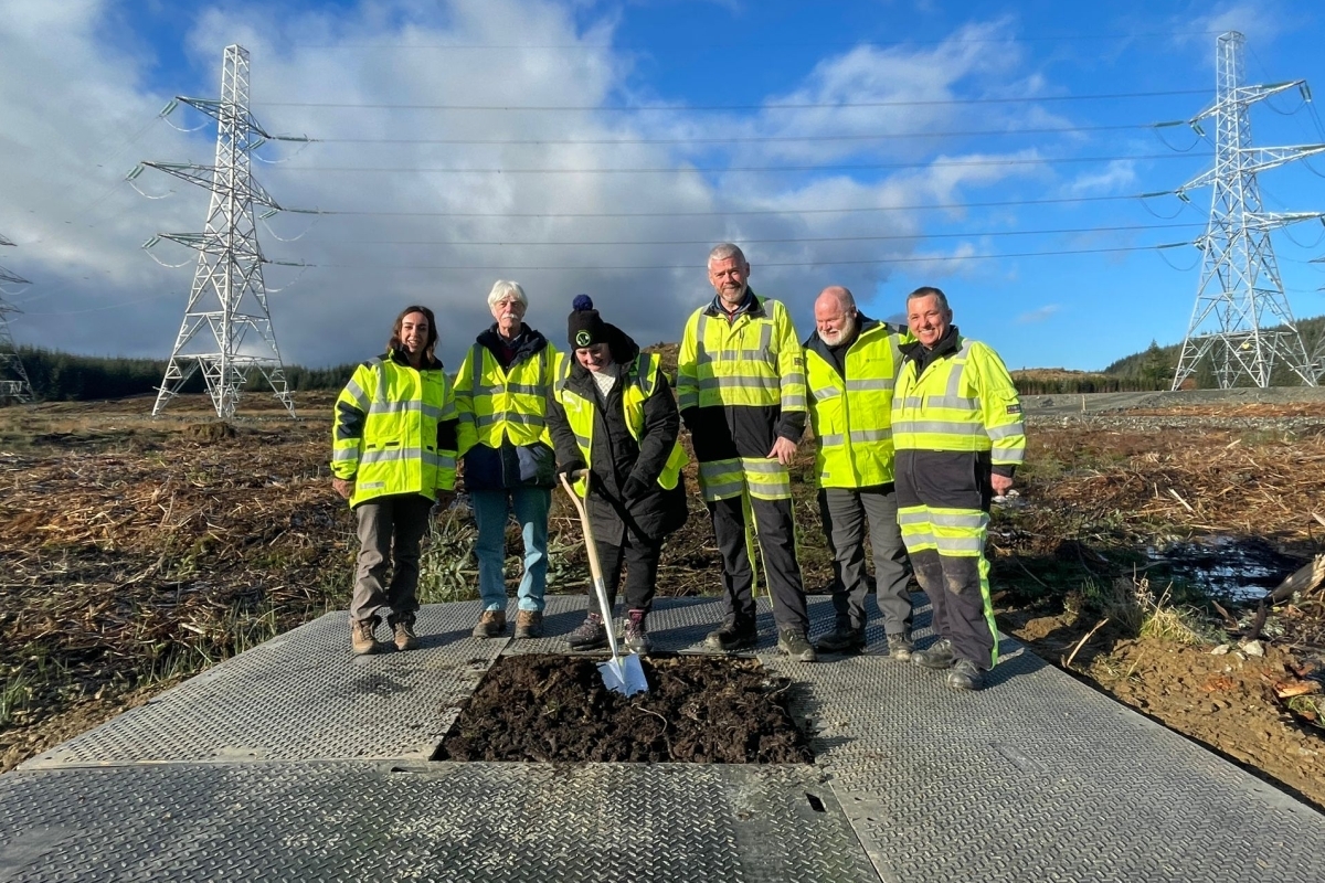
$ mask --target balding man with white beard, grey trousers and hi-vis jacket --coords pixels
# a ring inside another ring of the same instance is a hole
[[[832,631],[820,653],[865,647],[865,522],[874,555],[878,608],[888,653],[912,655],[909,565],[897,526],[893,485],[893,381],[904,328],[865,318],[841,286],[815,301],[815,334],[806,340],[806,385],[815,437],[815,474],[824,535],[833,555]]]

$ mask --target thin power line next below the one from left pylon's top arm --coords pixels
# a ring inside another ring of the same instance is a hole
[[[1059,163],[1117,163],[1124,160],[1190,159],[1200,154],[1133,154],[1130,156],[1041,156],[1034,159],[953,159],[916,163],[847,163],[836,165],[704,165],[639,168],[448,168],[425,165],[286,165],[286,172],[427,172],[448,175],[681,175],[733,172],[860,172],[896,168],[979,168],[988,165],[1055,165]]]

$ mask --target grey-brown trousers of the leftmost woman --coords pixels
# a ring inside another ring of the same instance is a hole
[[[428,530],[432,500],[421,494],[394,494],[360,503],[359,563],[354,575],[350,621],[380,622],[378,612],[391,608],[387,622],[413,622],[419,609],[419,543]],[[391,582],[384,585],[387,561]]]

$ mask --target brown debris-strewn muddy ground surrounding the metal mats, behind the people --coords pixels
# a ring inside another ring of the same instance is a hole
[[[0,769],[344,609],[355,541],[326,470],[331,401],[302,396],[305,418],[290,422],[250,398],[228,429],[189,398],[159,421],[147,400],[0,409]],[[1316,590],[1277,606],[1252,649],[1263,655],[1239,647],[1252,597],[1325,551],[1313,518],[1325,516],[1325,406],[1291,396],[1132,404],[1145,410],[1028,409],[1020,496],[991,527],[999,622],[1051,663],[1325,806],[1320,694],[1279,698],[1316,683],[1325,600]],[[795,508],[806,584],[823,590],[811,469],[807,446]],[[719,588],[694,494],[690,506],[664,553],[662,594]],[[462,510],[439,520],[425,602],[473,597],[472,541]],[[1252,594],[1212,588],[1215,568],[1178,551],[1192,541],[1208,541],[1216,565],[1227,559],[1235,581],[1259,580]],[[1279,557],[1251,575],[1248,543]],[[550,589],[582,592],[578,522],[559,495],[550,547]]]

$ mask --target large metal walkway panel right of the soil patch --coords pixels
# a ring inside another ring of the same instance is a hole
[[[974,694],[889,659],[768,661],[811,682],[792,712],[884,879],[1320,879],[1320,813],[999,643]]]

